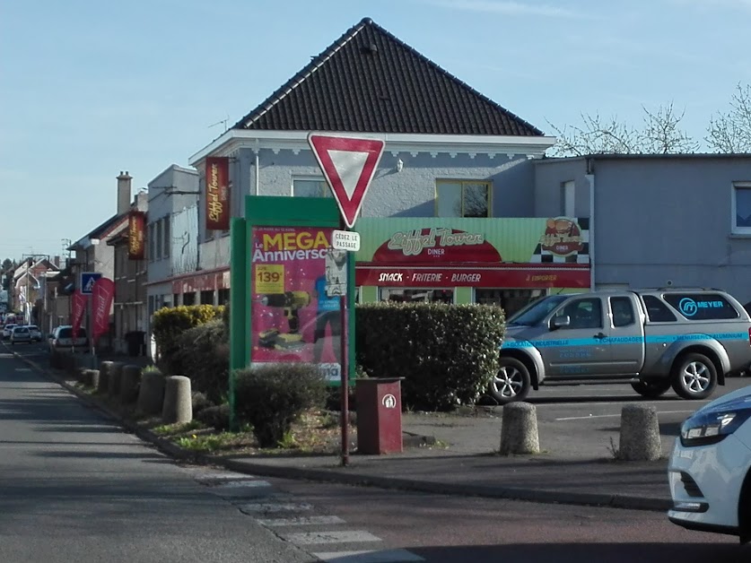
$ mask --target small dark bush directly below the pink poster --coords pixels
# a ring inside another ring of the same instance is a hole
[[[273,364],[235,374],[235,413],[253,427],[261,447],[276,447],[300,415],[321,407],[327,384],[310,364]]]

